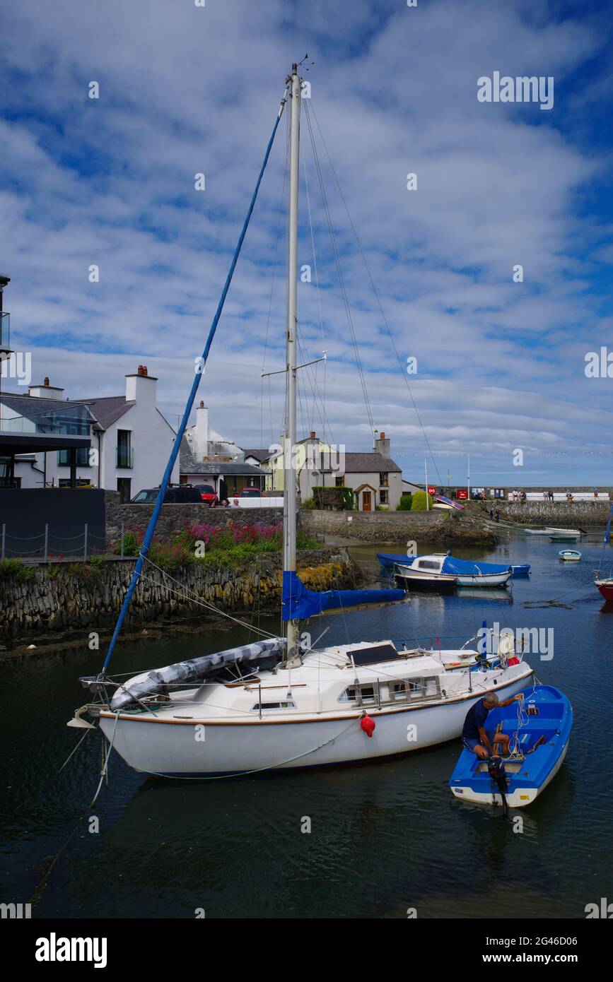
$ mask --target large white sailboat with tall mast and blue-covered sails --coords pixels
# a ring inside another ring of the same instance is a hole
[[[485,655],[471,649],[412,649],[390,639],[315,649],[302,634],[324,610],[397,602],[393,590],[307,590],[296,568],[297,475],[292,448],[297,419],[298,202],[302,80],[294,65],[268,142],[251,206],[213,318],[202,363],[221,315],[255,197],[284,107],[290,109],[289,247],[286,326],[286,430],[283,454],[282,636],[262,636],[238,648],[118,681],[108,666],[139,580],[195,400],[196,374],[158,499],[102,670],[82,679],[97,700],[69,726],[99,726],[111,749],[139,772],[177,778],[222,777],[376,760],[460,735],[465,716],[486,692],[501,698],[529,685],[532,670],[508,648]],[[350,595],[351,594],[351,595]],[[265,632],[260,632],[264,634]],[[92,723],[84,719],[88,716]]]

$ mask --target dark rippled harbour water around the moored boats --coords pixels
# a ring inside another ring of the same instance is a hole
[[[553,628],[553,658],[527,657],[539,681],[570,697],[575,727],[553,784],[513,813],[523,832],[500,810],[452,798],[459,742],[377,764],[206,782],[146,780],[113,754],[108,787],[89,809],[100,735],[86,736],[58,771],[83,734],[65,726],[87,698],[78,677],[99,670],[101,653],[33,656],[0,664],[0,899],[27,902],[38,891],[40,917],[405,918],[411,908],[421,918],[585,917],[586,903],[612,891],[613,612],[593,587],[600,537],[582,541],[579,564],[560,563],[561,547],[535,537],[482,551],[484,560],[532,565],[503,599],[415,594],[409,605],[310,626],[313,639],[330,628],[326,643],[438,638],[447,647],[483,620]],[[352,552],[377,574],[374,546]],[[278,618],[260,623],[279,627]],[[122,644],[113,668],[138,672],[247,639],[242,628],[210,637],[169,630],[164,640]]]

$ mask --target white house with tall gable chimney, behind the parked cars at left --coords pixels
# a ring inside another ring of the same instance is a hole
[[[4,415],[12,415],[14,426],[21,416],[26,428],[28,420],[39,419],[49,406],[86,408],[91,447],[76,451],[77,484],[119,491],[122,500],[129,501],[141,488],[159,484],[176,436],[157,409],[156,382],[146,365],[139,365],[137,372],[126,375],[123,396],[65,400],[64,389],[45,378],[42,385],[30,385],[28,395],[3,393],[0,399]],[[69,486],[70,455],[68,450],[22,454],[15,460],[15,477],[24,488]],[[179,462],[171,479],[179,482]]]

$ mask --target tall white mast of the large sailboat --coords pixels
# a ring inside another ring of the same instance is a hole
[[[301,80],[292,66],[290,83],[290,223],[287,270],[287,425],[283,453],[283,569],[296,571],[296,514],[298,467],[296,464],[296,332],[298,329],[298,186],[300,155]],[[298,622],[287,622],[287,661],[298,654]]]

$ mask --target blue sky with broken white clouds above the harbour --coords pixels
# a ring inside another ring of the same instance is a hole
[[[6,2],[0,271],[32,381],[114,395],[145,363],[176,425],[307,52],[299,318],[304,359],[328,360],[302,373],[300,429],[368,450],[370,413],[407,476],[429,446],[435,482],[470,453],[476,485],[613,483],[613,377],[585,376],[613,353],[612,27],[606,0]],[[552,77],[553,107],[479,101],[494,72]],[[247,447],[283,415],[260,372],[283,364],[286,140],[284,119],[199,393]]]

